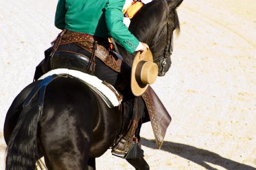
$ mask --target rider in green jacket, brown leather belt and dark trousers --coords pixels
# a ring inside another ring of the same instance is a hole
[[[131,92],[131,67],[110,49],[108,38],[114,38],[129,53],[146,51],[149,47],[139,42],[127,26],[123,24],[123,0],[59,0],[55,14],[55,26],[63,30],[55,42],[51,52],[51,69],[77,69],[84,73],[95,75],[102,81],[113,85],[121,91],[123,98],[124,115],[133,122],[133,138],[139,140],[138,120],[142,117],[145,103],[141,97],[135,97]],[[61,53],[62,52],[62,53]],[[63,53],[64,52],[64,53]],[[87,56],[88,65],[75,68],[78,64],[70,54],[78,57]],[[63,56],[62,58],[59,56]],[[124,128],[124,127],[123,127]],[[137,128],[136,132],[134,129]],[[129,134],[129,133],[128,133]],[[125,139],[124,141],[129,140]],[[121,141],[123,142],[123,140]],[[124,144],[125,145],[125,144]],[[131,145],[129,145],[131,146]],[[127,146],[117,144],[113,150],[115,155],[127,153]]]

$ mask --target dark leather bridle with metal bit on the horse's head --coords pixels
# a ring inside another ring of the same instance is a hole
[[[168,6],[168,3],[167,1],[166,2],[166,5]],[[172,50],[173,50],[173,32],[172,34],[170,34],[170,22],[171,22],[171,17],[173,15],[170,14],[170,9],[169,7],[167,7],[167,14],[166,14],[166,24],[165,26],[163,27],[163,30],[165,27],[167,27],[167,38],[166,38],[166,46],[164,48],[164,53],[161,55],[161,56],[158,56],[156,59],[154,59],[154,62],[157,63],[157,65],[161,65],[162,66],[162,71],[160,71],[160,75],[161,76],[164,76],[165,75],[165,67],[166,67],[166,59],[168,57],[170,57],[172,55]]]

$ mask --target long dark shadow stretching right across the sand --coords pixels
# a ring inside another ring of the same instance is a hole
[[[149,148],[156,148],[155,140],[148,140],[146,138],[141,138],[141,143],[143,146]],[[214,167],[211,167],[207,163],[212,163],[214,165],[219,165],[228,170],[255,170],[256,168],[242,163],[232,161],[221,157],[220,155],[213,153],[211,151],[204,150],[202,148],[196,148],[195,146],[189,146],[187,144],[175,143],[175,142],[164,142],[162,144],[162,151],[167,151],[174,155],[179,155],[189,161],[193,161],[205,169],[218,170]]]

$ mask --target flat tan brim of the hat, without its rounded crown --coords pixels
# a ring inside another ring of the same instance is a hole
[[[148,49],[145,54],[137,52],[135,58],[133,59],[133,65],[131,67],[131,91],[135,96],[142,95],[148,88],[148,84],[143,84],[140,80],[136,79],[135,76],[137,65],[142,60],[153,62],[153,55],[150,49]]]

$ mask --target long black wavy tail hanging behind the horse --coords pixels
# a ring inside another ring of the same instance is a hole
[[[38,105],[27,105],[22,109],[18,123],[16,124],[9,142],[7,144],[7,156],[5,160],[5,170],[34,170],[37,152],[37,127],[40,114]]]

